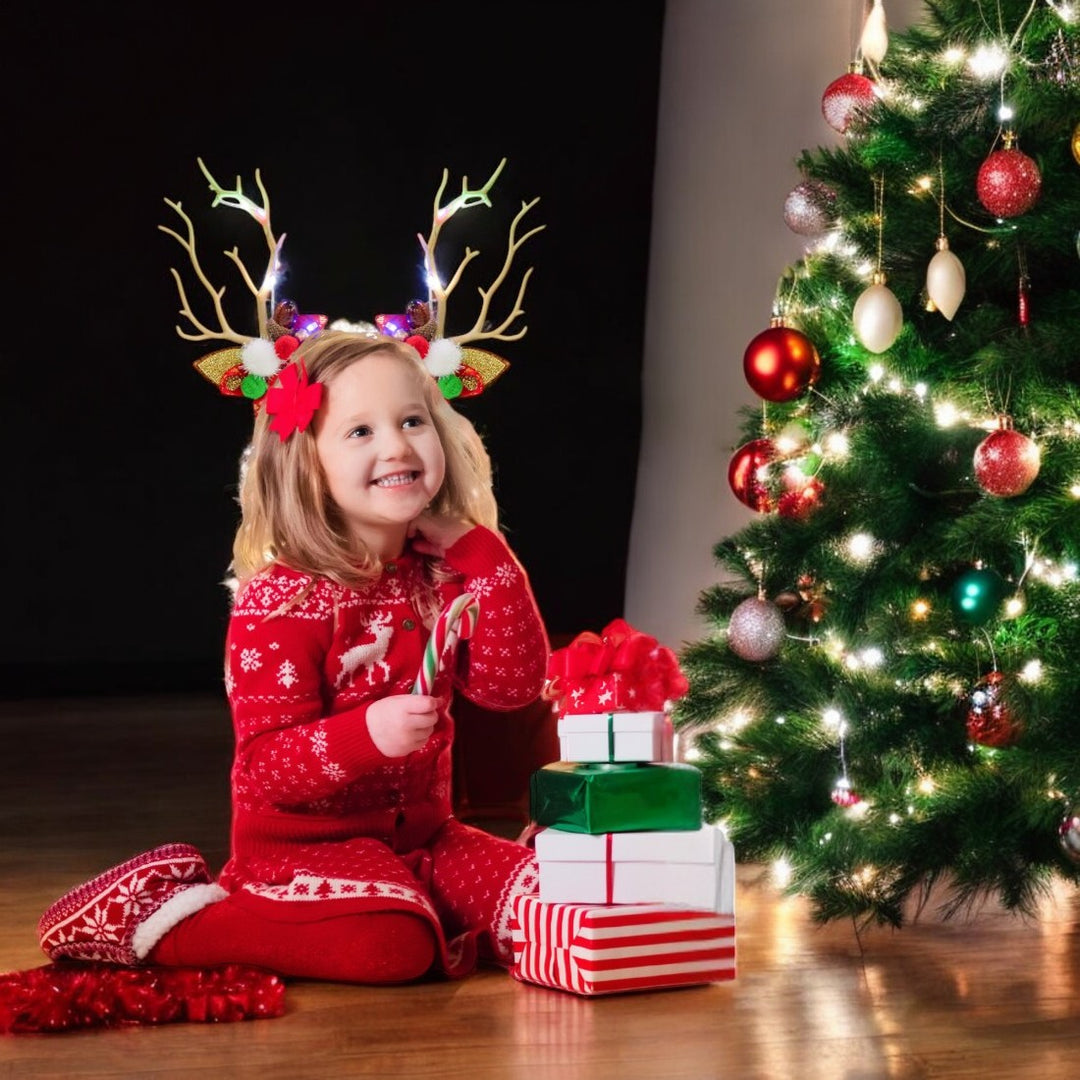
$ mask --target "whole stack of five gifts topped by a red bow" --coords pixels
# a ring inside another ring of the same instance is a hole
[[[581,995],[734,978],[734,851],[674,760],[687,685],[623,620],[552,654],[559,760],[531,777],[539,891],[513,908],[522,982]]]

